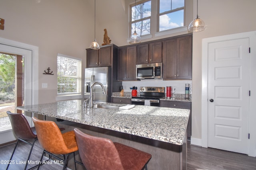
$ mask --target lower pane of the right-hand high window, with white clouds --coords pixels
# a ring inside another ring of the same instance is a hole
[[[159,17],[159,31],[182,27],[184,25],[184,10],[172,12]]]

